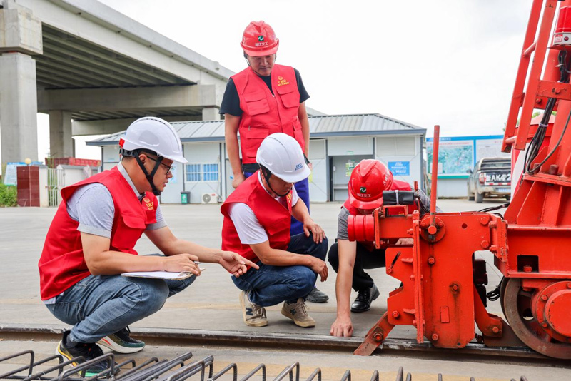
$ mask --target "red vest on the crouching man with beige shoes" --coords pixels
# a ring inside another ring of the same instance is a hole
[[[258,222],[266,230],[270,247],[278,250],[287,250],[290,243],[291,225],[291,191],[284,200],[286,205],[279,203],[275,198],[266,192],[260,181],[258,172],[246,178],[236,191],[222,204],[221,212],[224,215],[222,225],[222,250],[230,250],[249,259],[253,262],[258,260],[250,245],[241,243],[236,227],[229,214],[231,203],[245,203],[258,218]]]

